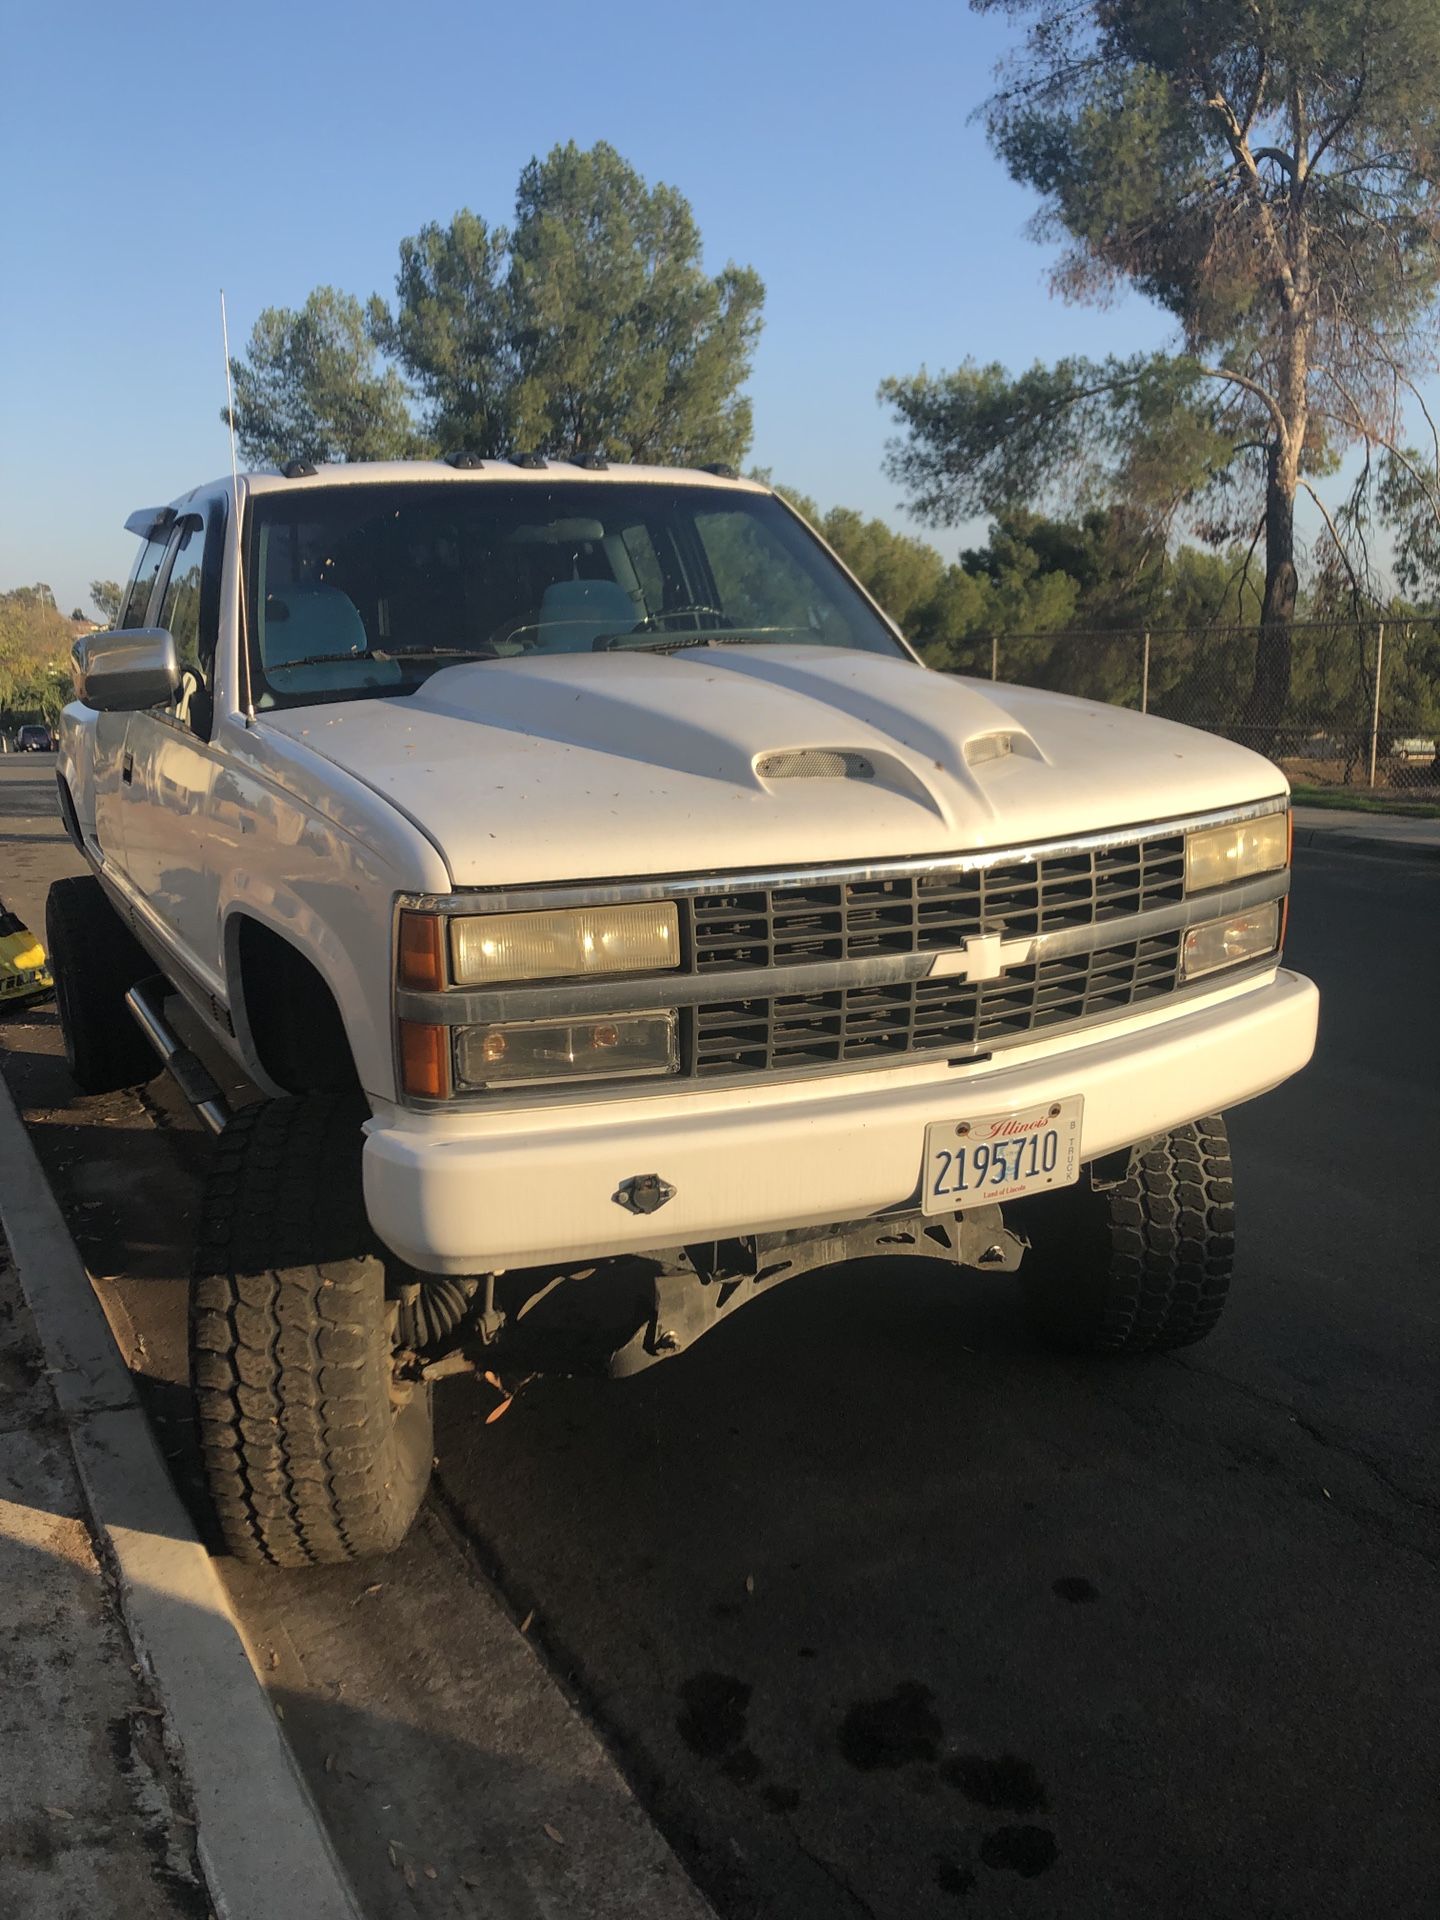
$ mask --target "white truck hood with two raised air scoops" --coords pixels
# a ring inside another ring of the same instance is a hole
[[[1014,847],[1284,793],[1213,733],[820,647],[467,662],[261,724],[399,808],[457,887]]]

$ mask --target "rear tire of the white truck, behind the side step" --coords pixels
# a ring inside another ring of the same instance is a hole
[[[117,1092],[152,1081],[159,1060],[131,1018],[125,995],[156,964],[90,874],[50,887],[44,945],[65,1060],[81,1092]]]

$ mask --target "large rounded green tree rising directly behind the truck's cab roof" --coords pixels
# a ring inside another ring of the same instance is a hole
[[[749,267],[707,276],[682,194],[570,142],[524,169],[513,228],[463,211],[403,240],[369,315],[438,445],[707,465],[749,447],[762,300]]]

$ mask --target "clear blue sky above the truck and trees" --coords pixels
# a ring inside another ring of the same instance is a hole
[[[612,142],[766,282],[753,459],[897,522],[885,374],[1164,338],[1046,292],[970,115],[1008,29],[962,0],[0,0],[0,588],[61,611],[138,505],[228,467],[232,348],[323,282],[394,290],[401,236],[507,221],[520,167]],[[950,543],[952,545],[952,543]]]

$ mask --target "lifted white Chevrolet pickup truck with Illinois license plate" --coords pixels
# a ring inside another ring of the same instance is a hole
[[[1092,1352],[1213,1327],[1219,1114],[1315,1039],[1267,760],[927,670],[728,472],[292,465],[127,524],[48,945],[79,1085],[163,1062],[219,1135],[234,1551],[392,1548],[445,1371],[630,1373],[839,1258],[1020,1269]]]

